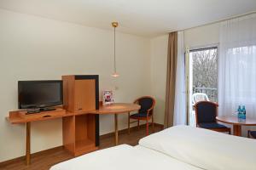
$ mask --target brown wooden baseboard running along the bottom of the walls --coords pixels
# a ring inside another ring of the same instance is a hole
[[[141,127],[146,127],[146,124],[140,125],[140,128]],[[163,129],[164,125],[159,124],[159,123],[154,123],[154,127],[160,127],[161,129]],[[132,133],[132,131],[137,130],[137,126],[136,127],[131,127],[130,130],[131,130],[131,133]],[[123,130],[119,130],[119,134],[127,133],[127,132],[128,132],[128,128],[125,128]],[[114,132],[103,134],[103,135],[100,136],[100,139],[105,139],[105,138],[112,137],[112,136],[114,136]],[[56,151],[59,151],[59,150],[64,150],[64,146],[61,145],[61,146],[57,146],[55,148],[50,148],[48,150],[38,151],[36,153],[32,153],[31,156],[33,157],[33,156],[47,155],[47,154],[50,154],[50,153],[53,153],[53,152],[56,152]],[[20,157],[17,157],[17,158],[8,160],[8,161],[2,161],[2,162],[0,162],[0,167],[4,167],[6,165],[12,164],[15,161],[25,161],[25,159],[26,159],[26,156],[20,156]]]

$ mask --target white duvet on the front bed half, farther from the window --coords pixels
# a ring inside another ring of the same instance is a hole
[[[177,161],[160,152],[142,146],[121,144],[105,150],[98,150],[84,156],[63,161],[50,170],[201,170],[182,161]]]

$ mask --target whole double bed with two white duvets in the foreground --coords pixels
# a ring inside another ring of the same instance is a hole
[[[139,141],[63,161],[50,170],[256,170],[256,140],[198,127],[170,127]]]

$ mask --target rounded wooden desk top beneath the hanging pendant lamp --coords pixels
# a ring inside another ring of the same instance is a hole
[[[131,103],[115,103],[112,105],[100,106],[99,110],[93,111],[94,114],[119,114],[130,111],[138,111],[141,109],[140,105]]]

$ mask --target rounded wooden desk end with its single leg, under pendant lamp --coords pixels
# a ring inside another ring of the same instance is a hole
[[[137,104],[115,103],[113,105],[100,106],[99,110],[93,111],[92,113],[99,115],[114,114],[115,145],[117,145],[119,144],[118,115],[138,111],[140,108],[141,106]]]

